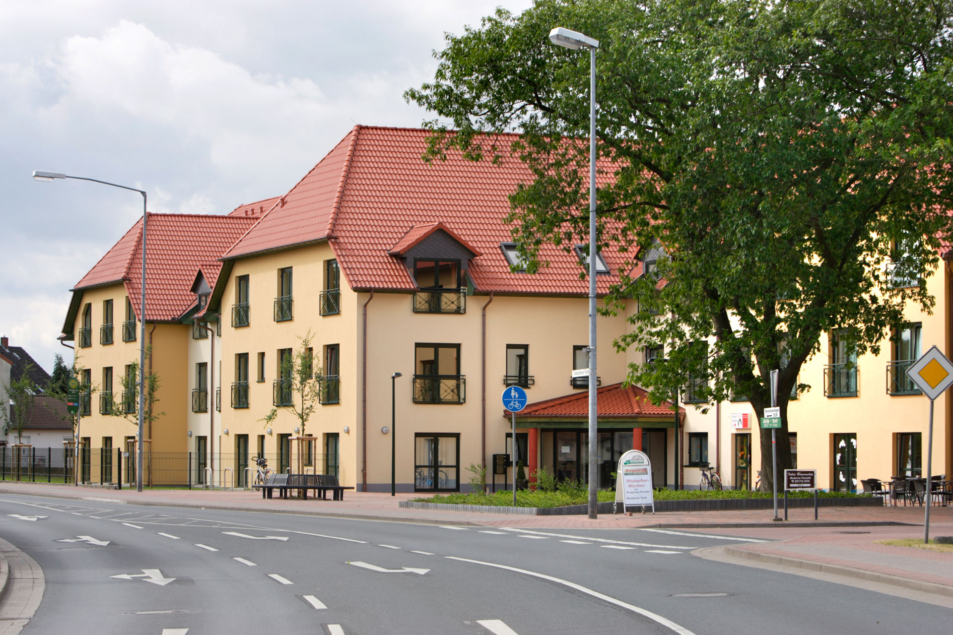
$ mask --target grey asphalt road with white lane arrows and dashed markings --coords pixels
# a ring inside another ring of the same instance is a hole
[[[945,632],[953,617],[703,560],[690,551],[751,539],[690,530],[462,528],[0,495],[0,537],[46,576],[27,635],[896,635]]]

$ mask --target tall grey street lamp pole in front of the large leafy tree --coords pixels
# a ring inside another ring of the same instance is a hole
[[[596,447],[596,50],[598,40],[575,30],[557,27],[550,41],[566,49],[589,50],[589,518],[598,517]],[[514,439],[514,441],[516,441]]]

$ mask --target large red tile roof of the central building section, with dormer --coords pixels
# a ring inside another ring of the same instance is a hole
[[[511,240],[503,223],[508,196],[533,173],[516,156],[497,165],[473,162],[460,152],[446,161],[420,158],[431,133],[425,129],[357,126],[301,181],[281,198],[224,258],[328,239],[345,279],[355,289],[416,288],[405,264],[388,251],[408,230],[443,223],[459,239],[481,252],[469,274],[480,291],[585,295],[588,283],[575,253],[553,245],[540,249],[550,266],[536,274],[513,273],[500,248]],[[517,140],[502,135],[497,143]],[[632,253],[603,252],[613,275],[598,277],[604,293]]]

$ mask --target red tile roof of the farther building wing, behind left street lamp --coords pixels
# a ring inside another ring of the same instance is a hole
[[[146,318],[177,320],[195,303],[190,290],[195,273],[202,269],[214,287],[221,270],[217,259],[257,219],[251,216],[199,214],[149,214],[147,226]],[[136,318],[142,287],[142,220],[126,234],[73,290],[111,282],[124,282]]]

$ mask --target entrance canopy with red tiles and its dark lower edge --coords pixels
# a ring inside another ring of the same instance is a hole
[[[656,406],[648,392],[638,386],[621,383],[598,388],[598,427],[675,427],[672,402]],[[504,412],[510,416],[509,412]],[[582,427],[589,419],[589,392],[579,390],[562,397],[529,404],[517,412],[517,427]],[[685,421],[685,408],[679,407],[679,422]]]

